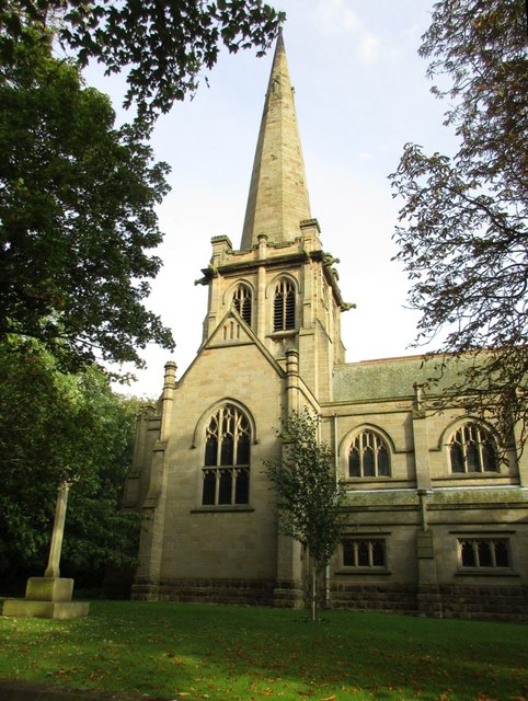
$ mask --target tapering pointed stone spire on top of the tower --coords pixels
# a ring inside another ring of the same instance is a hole
[[[299,222],[310,219],[305,163],[282,32],[277,38],[256,145],[240,249],[292,241]]]

